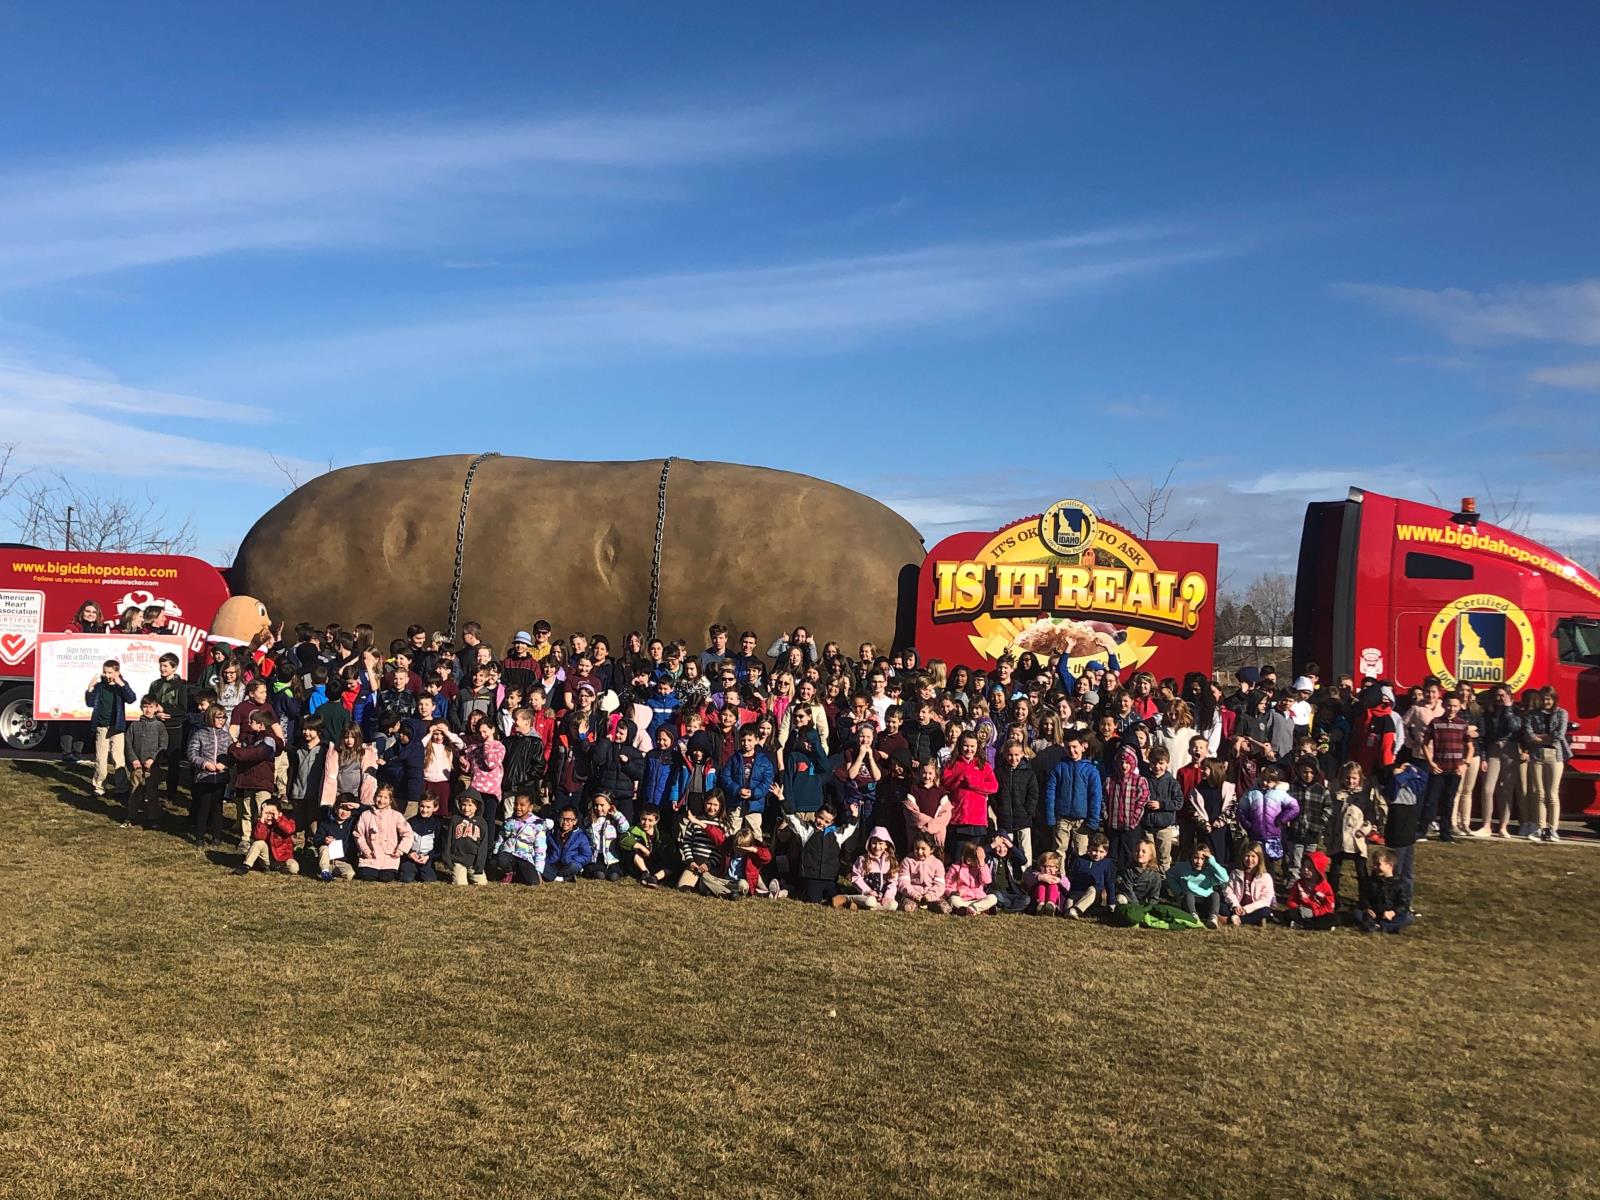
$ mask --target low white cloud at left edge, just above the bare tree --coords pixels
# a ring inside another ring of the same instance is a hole
[[[178,422],[261,422],[270,414],[178,392],[131,387],[88,366],[59,370],[0,350],[0,442],[14,462],[136,478],[171,475],[282,482],[272,454],[168,432]],[[278,456],[290,469],[310,464]]]

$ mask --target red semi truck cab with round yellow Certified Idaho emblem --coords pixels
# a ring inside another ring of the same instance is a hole
[[[1600,816],[1600,579],[1458,512],[1350,490],[1310,504],[1294,586],[1294,662],[1454,686],[1550,685],[1571,722],[1562,802]]]

